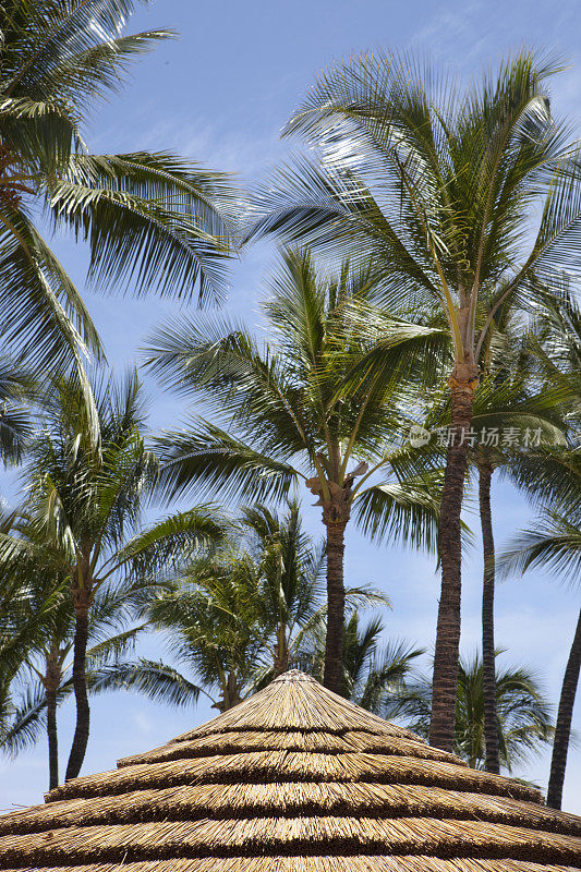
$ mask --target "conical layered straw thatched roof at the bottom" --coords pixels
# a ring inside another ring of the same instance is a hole
[[[0,869],[571,872],[581,818],[287,673],[0,818]]]

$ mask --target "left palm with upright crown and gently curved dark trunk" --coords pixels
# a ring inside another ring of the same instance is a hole
[[[123,578],[144,581],[222,535],[219,517],[209,507],[142,526],[158,467],[140,433],[144,408],[136,376],[124,383],[101,380],[95,408],[97,439],[84,390],[75,382],[55,385],[43,429],[27,455],[24,521],[19,535],[0,536],[0,567],[7,577],[19,566],[34,571],[45,565],[70,581],[76,728],[66,779],[78,775],[88,741],[86,649],[95,594]]]

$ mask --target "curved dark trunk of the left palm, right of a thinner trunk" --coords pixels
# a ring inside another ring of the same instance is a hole
[[[85,759],[88,742],[90,712],[87,695],[86,657],[88,640],[89,595],[86,588],[75,589],[75,635],[73,658],[73,688],[76,702],[76,726],[73,736],[65,779],[76,778]]]

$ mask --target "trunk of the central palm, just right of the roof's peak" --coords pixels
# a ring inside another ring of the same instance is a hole
[[[325,521],[327,528],[327,639],[323,683],[341,692],[344,632],[343,521]]]

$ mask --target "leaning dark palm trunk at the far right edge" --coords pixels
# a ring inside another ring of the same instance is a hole
[[[581,611],[574,632],[573,644],[569,653],[569,661],[565,669],[562,688],[559,700],[555,741],[553,743],[553,759],[550,761],[550,777],[548,779],[547,806],[560,809],[562,801],[562,784],[565,782],[565,766],[569,750],[571,720],[573,716],[574,698],[579,683],[581,668]]]

